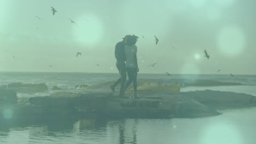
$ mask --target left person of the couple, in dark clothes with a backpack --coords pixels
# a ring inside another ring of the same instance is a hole
[[[123,41],[120,41],[119,43],[117,43],[117,45],[115,45],[115,58],[117,59],[117,68],[120,74],[120,78],[114,82],[114,84],[112,86],[110,86],[110,88],[112,89],[113,92],[115,92],[115,87],[121,83],[121,87],[120,87],[120,93],[119,96],[124,96],[124,86],[125,86],[125,81],[126,81],[126,69],[125,69],[125,61],[126,61],[126,57],[125,57],[125,44],[126,44],[126,37],[123,38]]]

